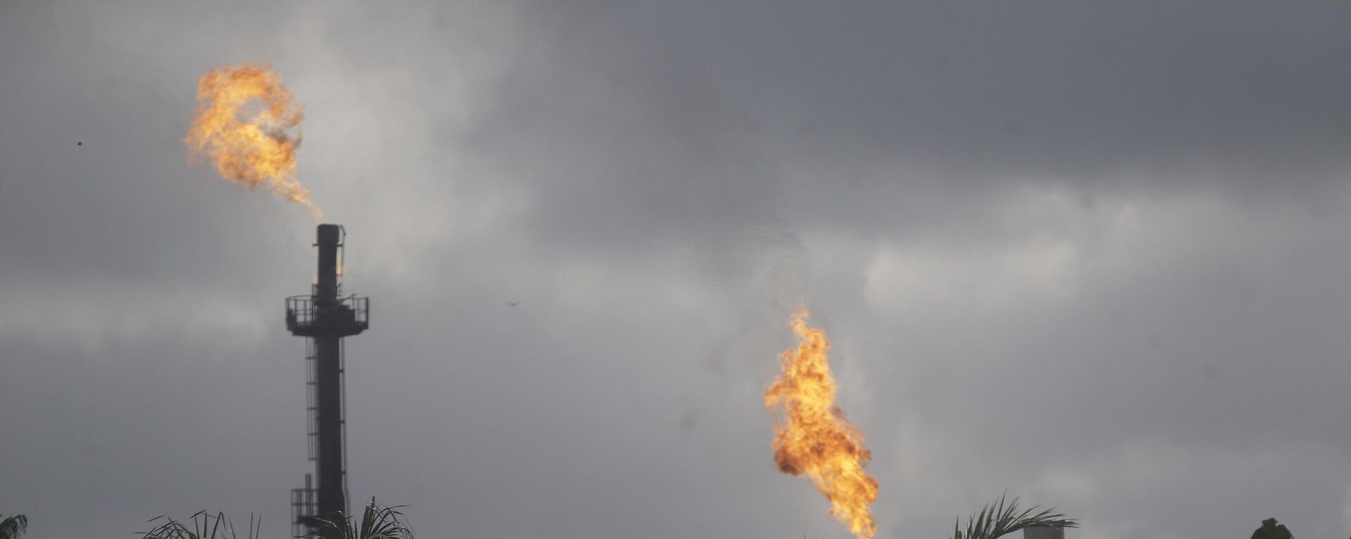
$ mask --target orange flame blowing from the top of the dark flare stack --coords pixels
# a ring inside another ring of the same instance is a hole
[[[323,212],[309,200],[309,189],[296,181],[301,118],[266,63],[215,69],[197,81],[197,116],[184,140],[188,161],[196,165],[209,157],[222,178],[250,190],[267,184],[274,195],[309,208],[320,220]]]

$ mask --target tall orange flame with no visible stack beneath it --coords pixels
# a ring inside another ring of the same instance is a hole
[[[869,505],[877,500],[877,480],[863,471],[873,457],[863,446],[863,432],[844,419],[835,405],[835,378],[825,351],[825,331],[807,327],[807,308],[788,326],[797,335],[797,349],[778,357],[778,380],[765,390],[765,407],[784,405],[784,419],[774,426],[774,461],[790,476],[812,478],[816,490],[831,501],[831,515],[859,539],[877,535]]]

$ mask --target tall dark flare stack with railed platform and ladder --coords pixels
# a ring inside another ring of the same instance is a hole
[[[317,231],[319,274],[308,296],[286,299],[286,330],[305,339],[309,459],[315,477],[305,474],[305,486],[290,490],[292,531],[301,535],[315,517],[330,519],[347,511],[346,390],[343,384],[342,338],[370,327],[369,301],[342,293],[342,253],[346,231],[338,224],[320,224]],[[316,496],[317,494],[317,496]]]

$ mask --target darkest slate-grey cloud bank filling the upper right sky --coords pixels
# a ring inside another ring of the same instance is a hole
[[[796,131],[823,154],[1092,173],[1140,158],[1340,147],[1347,111],[1335,103],[1351,89],[1343,9],[648,3],[626,30],[670,51],[651,63],[716,78],[766,130]]]

